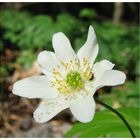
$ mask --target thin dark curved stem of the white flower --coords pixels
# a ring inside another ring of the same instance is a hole
[[[107,105],[107,104],[105,104],[105,103],[99,101],[98,99],[95,99],[95,101],[96,101],[97,103],[99,103],[100,105],[102,105],[102,106],[108,108],[108,109],[111,110],[112,112],[114,112],[114,113],[124,122],[125,126],[128,128],[129,132],[131,133],[132,138],[136,138],[136,136],[135,136],[135,134],[134,134],[132,128],[130,127],[130,125],[128,124],[128,122],[126,121],[126,119],[125,119],[118,111],[116,111],[115,109],[113,109],[113,108],[110,107],[109,105]]]

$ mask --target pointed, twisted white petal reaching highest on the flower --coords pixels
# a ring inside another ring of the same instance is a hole
[[[78,58],[80,59],[81,66],[84,67],[83,59],[86,58],[89,61],[90,67],[92,68],[94,60],[98,54],[98,50],[99,50],[99,46],[97,43],[95,31],[93,27],[90,26],[88,31],[87,41],[77,53]]]

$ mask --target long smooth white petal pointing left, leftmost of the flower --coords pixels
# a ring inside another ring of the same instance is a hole
[[[59,92],[50,86],[46,76],[33,76],[17,81],[12,92],[27,98],[55,98]]]

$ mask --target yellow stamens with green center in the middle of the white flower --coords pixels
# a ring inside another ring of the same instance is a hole
[[[61,94],[65,95],[68,100],[77,98],[77,93],[80,90],[85,90],[85,80],[91,80],[93,74],[90,72],[90,64],[86,58],[83,59],[84,69],[79,67],[78,60],[73,59],[69,62],[61,61],[61,65],[53,68],[53,80],[51,86],[55,87]],[[66,76],[61,74],[60,68],[64,67],[67,72]],[[87,92],[85,92],[87,94]],[[81,96],[84,96],[85,93]],[[79,95],[78,95],[79,96]]]

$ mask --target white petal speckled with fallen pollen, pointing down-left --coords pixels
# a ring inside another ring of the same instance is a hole
[[[68,107],[68,103],[60,97],[51,100],[44,100],[35,110],[33,116],[37,122],[44,123]]]

